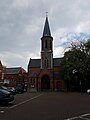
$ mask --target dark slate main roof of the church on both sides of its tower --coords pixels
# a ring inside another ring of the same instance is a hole
[[[61,58],[53,58],[53,66],[60,66],[60,59]],[[28,67],[40,67],[41,66],[41,59],[30,59]]]

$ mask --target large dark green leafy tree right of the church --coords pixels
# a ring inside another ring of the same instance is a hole
[[[71,44],[61,60],[61,75],[68,91],[86,91],[90,87],[90,40]]]

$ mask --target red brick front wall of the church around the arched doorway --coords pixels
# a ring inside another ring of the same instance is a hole
[[[60,67],[54,67],[53,70],[48,70],[47,68],[45,69],[40,69],[36,67],[29,68],[28,76],[32,75],[32,73],[39,73],[38,79],[35,79],[35,87],[37,87],[37,81],[38,81],[38,88],[41,88],[41,78],[43,75],[48,75],[51,79],[51,87],[54,87],[54,90],[57,88],[57,82],[60,82],[60,87],[61,89],[64,89],[64,81],[61,78],[55,78],[53,79],[53,72],[59,72],[60,73]],[[29,78],[28,78],[29,79]]]

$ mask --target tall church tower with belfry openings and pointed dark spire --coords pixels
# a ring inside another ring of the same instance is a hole
[[[53,37],[51,36],[47,15],[41,38],[41,69],[44,68],[53,69]]]

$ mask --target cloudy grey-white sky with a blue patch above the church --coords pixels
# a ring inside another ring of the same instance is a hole
[[[27,69],[30,58],[40,58],[46,11],[54,57],[63,55],[65,43],[73,39],[74,33],[90,38],[90,0],[0,0],[3,65]]]

